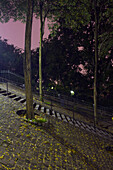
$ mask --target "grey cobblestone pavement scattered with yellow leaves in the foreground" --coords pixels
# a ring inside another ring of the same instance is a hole
[[[31,125],[19,109],[25,103],[0,94],[0,169],[113,169],[112,141],[49,115],[48,125]]]

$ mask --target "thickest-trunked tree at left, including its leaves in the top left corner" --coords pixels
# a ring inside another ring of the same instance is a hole
[[[26,8],[27,2],[27,8]],[[31,89],[31,30],[33,18],[34,0],[3,0],[0,1],[0,21],[8,22],[9,19],[26,21],[25,31],[25,56],[24,56],[24,76],[26,92],[27,118],[34,118],[33,96]],[[27,20],[26,20],[27,10]]]

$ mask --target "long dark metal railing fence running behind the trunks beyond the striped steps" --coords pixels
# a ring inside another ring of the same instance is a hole
[[[24,85],[24,78],[16,75],[11,72],[7,72],[10,76],[7,76],[6,78],[0,77],[0,82],[5,83],[6,89],[8,92],[8,83],[12,83],[16,86],[22,87]],[[2,75],[6,74],[6,72],[2,72]],[[15,77],[15,78],[14,78]],[[39,94],[38,91],[34,89],[34,93],[37,95]],[[93,103],[88,103],[84,100],[80,100],[78,98],[73,98],[71,96],[65,96],[62,94],[56,94],[56,93],[49,93],[47,91],[43,91],[44,99],[49,100],[51,103],[51,109],[53,104],[57,104],[58,107],[63,107],[67,110],[70,110],[73,112],[73,118],[75,117],[75,113],[78,113],[84,117],[87,117],[91,120],[94,120],[94,108]],[[113,108],[112,107],[103,107],[99,106],[97,108],[97,120],[99,122],[104,121],[106,123],[113,124],[112,121],[113,117]]]

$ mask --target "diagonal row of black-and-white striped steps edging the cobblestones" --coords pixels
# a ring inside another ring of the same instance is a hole
[[[1,94],[3,94],[4,90],[0,90]],[[8,97],[10,98],[13,98],[14,100],[22,103],[22,104],[26,104],[26,99],[25,98],[22,98],[20,96],[17,96],[16,94],[10,94],[8,95]],[[34,108],[36,110],[39,110],[43,113],[46,113],[47,115],[50,115],[50,116],[53,116],[61,121],[64,121],[66,123],[69,123],[73,126],[76,126],[76,127],[79,127],[79,128],[82,128],[84,130],[87,130],[91,133],[94,133],[94,134],[97,134],[99,136],[103,136],[103,137],[106,137],[106,138],[110,138],[111,140],[113,140],[113,134],[112,133],[109,133],[105,130],[102,130],[102,129],[99,129],[99,128],[94,128],[94,126],[91,126],[83,121],[79,121],[79,120],[76,120],[76,119],[73,119],[72,117],[70,116],[67,116],[65,114],[62,114],[62,113],[59,113],[59,112],[56,112],[54,110],[51,110],[49,108],[46,108],[45,106],[42,106],[40,104],[37,104],[36,102],[33,104]]]

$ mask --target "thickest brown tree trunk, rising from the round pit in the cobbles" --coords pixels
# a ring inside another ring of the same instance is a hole
[[[25,57],[24,57],[24,77],[26,93],[27,119],[34,118],[33,96],[31,88],[31,31],[33,18],[33,0],[28,0],[28,11],[25,31]]]

